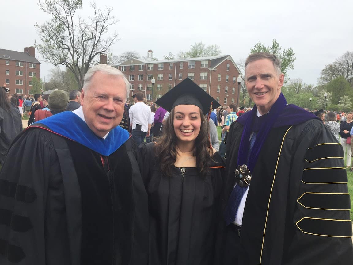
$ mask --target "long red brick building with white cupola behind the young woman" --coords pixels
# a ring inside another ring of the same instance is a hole
[[[112,65],[125,73],[130,80],[131,95],[142,91],[146,99],[155,101],[189,77],[221,106],[237,103],[237,77],[241,72],[231,55],[158,61],[153,61],[152,58],[153,52],[149,50],[146,60],[133,58],[119,65]],[[156,82],[152,93],[153,77]]]

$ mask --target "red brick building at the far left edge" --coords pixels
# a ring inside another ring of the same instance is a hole
[[[32,95],[32,77],[40,78],[40,61],[35,58],[35,47],[24,52],[0,49],[0,83],[6,83],[10,93]]]

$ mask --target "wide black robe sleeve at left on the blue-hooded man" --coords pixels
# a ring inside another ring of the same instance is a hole
[[[50,134],[21,133],[0,172],[0,264],[71,264],[62,185]]]

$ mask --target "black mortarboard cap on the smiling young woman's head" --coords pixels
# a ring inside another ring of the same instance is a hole
[[[186,78],[156,100],[155,103],[169,112],[178,105],[195,105],[201,108],[204,114],[208,114],[211,102],[213,102],[213,109],[221,106],[205,90],[191,81],[190,78]]]

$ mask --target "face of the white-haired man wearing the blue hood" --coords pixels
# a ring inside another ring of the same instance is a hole
[[[126,84],[122,77],[96,72],[81,94],[81,106],[88,127],[104,137],[118,126],[124,113]]]

